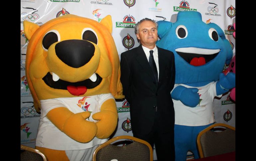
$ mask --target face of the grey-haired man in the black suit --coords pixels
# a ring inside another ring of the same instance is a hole
[[[139,33],[136,34],[141,44],[145,47],[155,45],[157,41],[157,28],[155,23],[151,21],[143,21],[139,25]]]

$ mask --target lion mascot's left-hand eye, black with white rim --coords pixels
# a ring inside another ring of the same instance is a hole
[[[49,47],[60,40],[60,34],[56,30],[49,31],[43,38],[42,45],[44,50],[48,50]]]

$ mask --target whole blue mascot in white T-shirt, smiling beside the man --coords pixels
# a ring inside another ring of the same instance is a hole
[[[159,47],[175,55],[175,86],[171,93],[175,109],[176,161],[192,151],[197,159],[196,137],[214,122],[213,99],[235,87],[235,74],[222,73],[233,56],[221,28],[206,24],[199,12],[179,12],[177,22],[158,21]]]

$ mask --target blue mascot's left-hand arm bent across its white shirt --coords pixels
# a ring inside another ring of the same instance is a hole
[[[171,96],[174,100],[180,100],[184,105],[189,107],[196,107],[199,103],[199,94],[197,88],[186,88],[177,86]]]

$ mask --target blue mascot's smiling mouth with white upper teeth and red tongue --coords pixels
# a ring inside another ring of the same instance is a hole
[[[184,47],[177,48],[175,51],[189,64],[201,66],[214,59],[220,52],[220,49]]]

